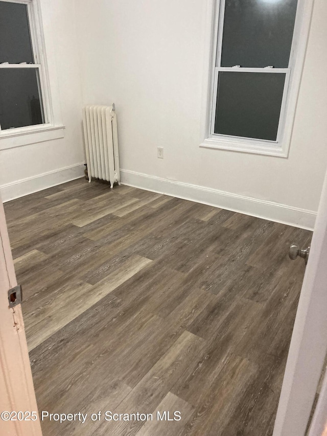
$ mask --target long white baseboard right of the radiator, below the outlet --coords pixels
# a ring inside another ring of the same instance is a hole
[[[256,198],[205,188],[192,185],[191,183],[149,176],[129,170],[121,170],[121,182],[124,185],[133,186],[135,188],[172,195],[185,200],[197,201],[232,212],[240,212],[242,214],[293,225],[307,230],[313,230],[317,215],[314,211],[294,208],[286,204],[258,200]]]

